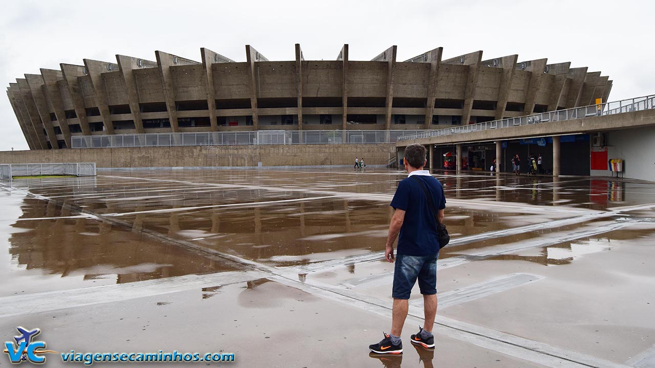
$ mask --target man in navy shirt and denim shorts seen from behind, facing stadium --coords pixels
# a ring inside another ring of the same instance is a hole
[[[439,257],[439,237],[432,208],[436,209],[438,220],[443,221],[445,196],[440,181],[423,170],[427,160],[426,149],[413,144],[405,147],[405,170],[409,173],[398,183],[398,189],[391,201],[396,210],[389,225],[384,258],[394,261],[394,242],[398,237],[398,251],[394,267],[394,298],[391,333],[384,334],[378,344],[369,346],[379,354],[400,354],[403,344],[400,340],[407,310],[409,294],[414,284],[419,282],[423,295],[425,321],[419,333],[411,335],[411,342],[425,348],[434,347],[432,327],[437,312],[437,258]],[[426,191],[429,195],[426,196]],[[432,200],[432,205],[428,204]]]

